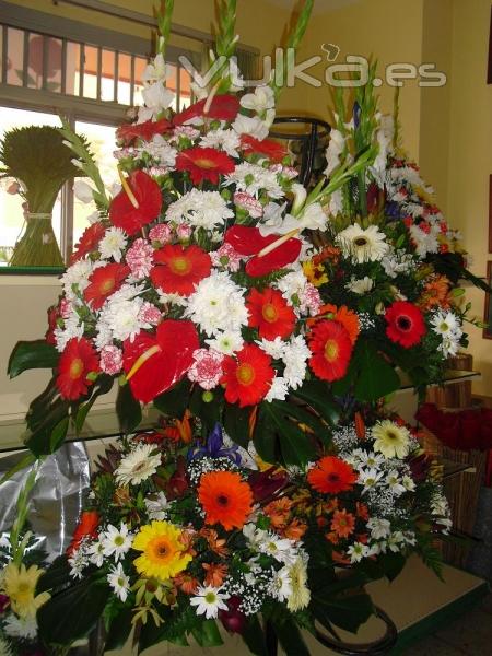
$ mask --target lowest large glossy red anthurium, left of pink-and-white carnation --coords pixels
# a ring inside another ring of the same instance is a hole
[[[149,403],[178,383],[200,348],[191,321],[165,319],[155,336],[140,332],[124,343],[124,370],[136,399]]]

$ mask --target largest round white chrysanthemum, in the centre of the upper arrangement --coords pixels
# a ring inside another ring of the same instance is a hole
[[[185,316],[198,324],[209,337],[237,332],[248,323],[243,292],[225,271],[212,271],[189,296]],[[216,349],[215,345],[213,348]]]

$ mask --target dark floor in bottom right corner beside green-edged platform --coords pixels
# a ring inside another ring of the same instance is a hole
[[[406,649],[402,656],[491,656],[492,594],[449,626]]]

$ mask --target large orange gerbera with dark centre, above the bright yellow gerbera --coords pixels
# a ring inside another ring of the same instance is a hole
[[[253,507],[253,492],[236,471],[209,471],[200,478],[198,499],[206,524],[221,524],[226,530],[243,528]]]

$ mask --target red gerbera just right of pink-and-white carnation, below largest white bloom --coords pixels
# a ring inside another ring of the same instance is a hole
[[[244,347],[236,358],[225,358],[222,368],[225,400],[238,402],[241,408],[259,403],[267,396],[274,375],[271,358],[255,344]]]

